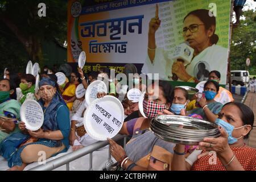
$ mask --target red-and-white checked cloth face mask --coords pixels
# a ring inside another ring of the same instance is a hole
[[[154,118],[158,113],[163,113],[166,105],[158,104],[151,100],[143,100],[143,111],[147,118]]]

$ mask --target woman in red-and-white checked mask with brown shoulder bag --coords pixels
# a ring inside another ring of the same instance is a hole
[[[147,118],[135,118],[125,122],[119,132],[132,136],[125,150],[109,139],[111,155],[122,164],[123,169],[127,171],[170,169],[174,143],[159,139],[149,127],[152,118],[170,109],[173,98],[174,89],[170,83],[159,80],[159,85],[152,86],[152,89],[148,89],[145,94],[143,110]]]

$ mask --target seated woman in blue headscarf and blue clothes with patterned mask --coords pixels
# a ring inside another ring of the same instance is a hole
[[[27,164],[37,162],[44,151],[46,159],[68,150],[70,130],[69,110],[61,96],[56,92],[56,82],[42,78],[39,82],[38,101],[44,111],[44,122],[38,131],[26,130],[24,122],[19,123],[22,133],[12,134],[3,140],[2,156],[8,161],[11,170],[23,170]],[[26,143],[34,138],[36,142]],[[22,144],[20,146],[20,144]]]

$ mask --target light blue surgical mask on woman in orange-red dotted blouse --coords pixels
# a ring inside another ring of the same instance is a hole
[[[236,130],[236,129],[241,129],[242,127],[245,127],[246,125],[243,125],[241,127],[234,127],[233,125],[230,125],[228,122],[225,122],[223,121],[222,119],[216,119],[215,123],[218,125],[218,126],[221,126],[221,127],[224,127],[224,129],[226,130],[226,133],[228,133],[229,137],[228,137],[228,143],[229,144],[233,144],[233,143],[236,143],[238,139],[242,138],[243,136],[239,137],[239,138],[234,138],[232,136],[232,132],[233,130]]]

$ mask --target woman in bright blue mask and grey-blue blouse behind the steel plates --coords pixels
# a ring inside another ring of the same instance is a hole
[[[220,112],[222,104],[220,102],[214,101],[214,97],[218,93],[218,82],[209,80],[204,84],[205,97],[201,97],[199,104],[200,107],[195,107],[195,109],[187,107],[188,114],[199,114],[204,120],[214,122],[217,119],[217,114]],[[191,102],[196,103],[196,100]],[[189,102],[188,105],[191,105]]]

